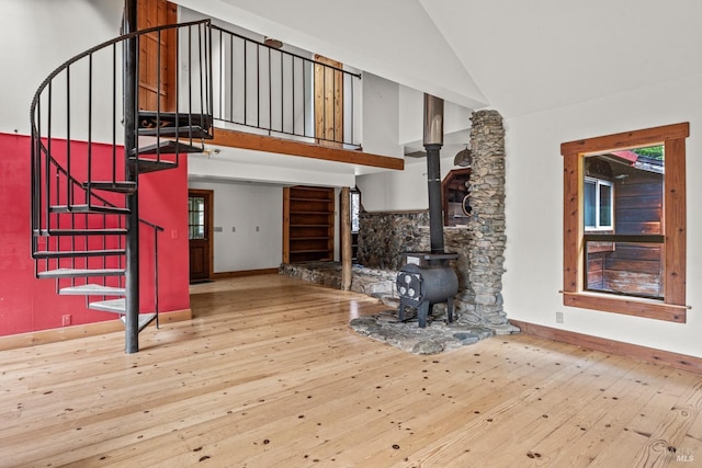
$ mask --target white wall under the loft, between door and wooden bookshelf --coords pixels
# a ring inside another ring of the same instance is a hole
[[[282,187],[202,181],[191,181],[189,187],[214,191],[214,273],[280,266]]]

